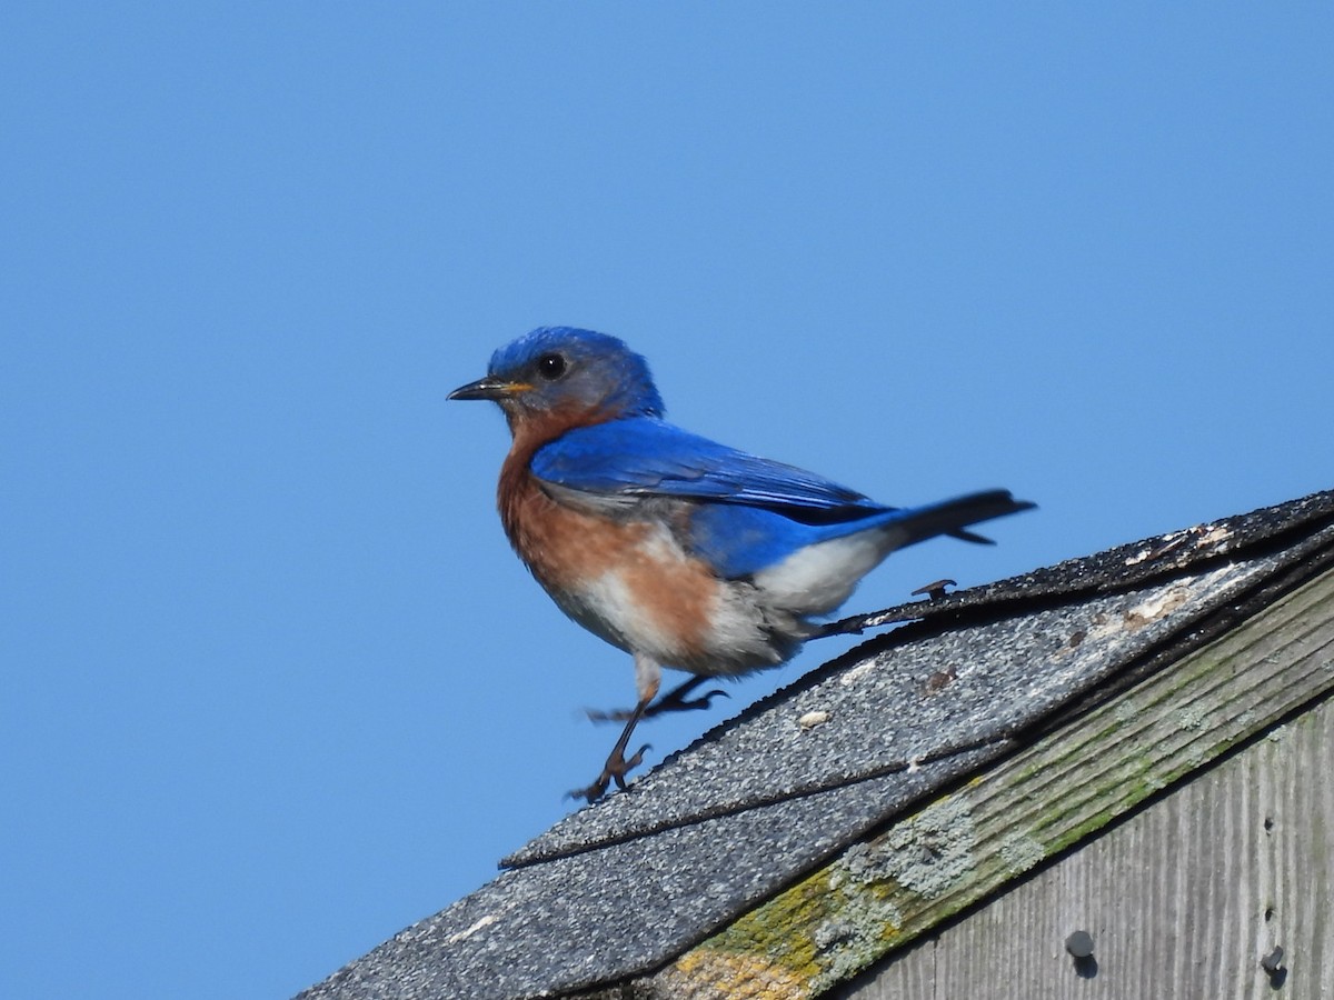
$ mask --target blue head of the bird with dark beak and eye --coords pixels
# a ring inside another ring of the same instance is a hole
[[[450,399],[488,399],[511,429],[559,419],[571,425],[662,416],[648,363],[616,337],[574,327],[539,327],[491,356],[483,379]]]

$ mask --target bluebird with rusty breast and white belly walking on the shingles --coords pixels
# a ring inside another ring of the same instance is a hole
[[[644,357],[591,329],[539,327],[448,399],[499,404],[510,544],[568,617],[634,660],[620,737],[570,793],[588,803],[643,763],[647,747],[626,757],[642,719],[704,708],[722,692],[686,695],[707,679],[792,659],[892,551],[938,535],[990,543],[968,525],[1034,507],[1005,489],[888,507],[684,431],[664,419]],[[659,699],[663,668],[691,677]]]

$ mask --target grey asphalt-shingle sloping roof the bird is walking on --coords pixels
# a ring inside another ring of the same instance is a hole
[[[827,891],[831,859],[840,871],[864,863],[868,839],[896,817],[920,831],[922,812],[903,819],[911,808],[1046,735],[1078,731],[1118,692],[1234,632],[1331,560],[1334,491],[835,623],[899,627],[566,817],[504,859],[498,879],[301,997],[527,997],[679,968],[766,901],[799,905],[791,893],[803,880],[820,875]],[[1245,712],[1219,713],[1231,735],[1205,732],[1190,760],[1334,688],[1334,661],[1318,660],[1265,692],[1263,711],[1251,692]],[[940,888],[931,879],[958,875],[942,821],[931,820],[943,844],[931,848],[935,863],[895,875],[924,897]],[[1069,837],[1091,829],[1067,825]],[[1069,837],[1006,841],[1009,869]]]

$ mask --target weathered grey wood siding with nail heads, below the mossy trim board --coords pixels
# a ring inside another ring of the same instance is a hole
[[[1334,700],[827,996],[1334,1000]]]

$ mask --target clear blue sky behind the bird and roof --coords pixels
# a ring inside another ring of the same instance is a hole
[[[8,4],[0,995],[287,996],[572,808],[631,665],[444,399],[531,327],[886,503],[1041,503],[848,613],[1334,487],[1330,51],[1327,4]]]

